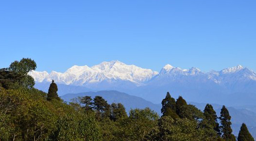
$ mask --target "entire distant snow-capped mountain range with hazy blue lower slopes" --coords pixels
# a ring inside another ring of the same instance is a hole
[[[120,61],[102,62],[92,67],[73,66],[64,73],[29,72],[37,88],[47,91],[53,80],[62,88],[59,95],[99,90],[117,90],[160,103],[167,91],[173,97],[199,103],[230,106],[255,105],[256,73],[240,65],[221,71],[202,72],[196,67],[181,69],[169,64],[160,72],[126,65]]]

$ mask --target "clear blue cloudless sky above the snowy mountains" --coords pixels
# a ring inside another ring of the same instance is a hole
[[[154,71],[256,71],[255,0],[0,1],[0,68],[37,71],[119,60]]]

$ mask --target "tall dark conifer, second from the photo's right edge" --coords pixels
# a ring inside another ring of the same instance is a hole
[[[222,106],[221,112],[220,112],[220,122],[221,122],[221,133],[222,138],[225,141],[236,141],[236,137],[232,134],[231,129],[231,116],[229,115],[229,112],[225,106]]]

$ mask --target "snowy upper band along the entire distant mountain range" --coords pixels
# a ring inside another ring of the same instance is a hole
[[[73,66],[64,73],[52,71],[47,72],[29,72],[36,82],[50,82],[52,79],[59,84],[75,86],[91,86],[99,84],[104,85],[130,85],[136,86],[151,84],[167,84],[174,81],[202,81],[214,82],[218,85],[233,85],[234,83],[244,81],[256,81],[256,73],[241,65],[226,68],[221,71],[202,72],[200,69],[192,67],[190,69],[181,69],[169,64],[165,65],[160,73],[151,69],[144,69],[135,65],[126,65],[120,61],[102,62],[92,67]],[[114,83],[113,83],[114,82]],[[130,82],[124,84],[122,82]],[[129,86],[127,86],[129,87]]]

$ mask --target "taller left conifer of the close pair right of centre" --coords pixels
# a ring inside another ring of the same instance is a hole
[[[176,102],[175,99],[171,97],[170,93],[167,92],[165,99],[162,100],[162,116],[171,116],[173,119],[178,118],[176,114]]]

